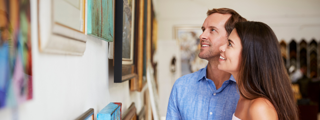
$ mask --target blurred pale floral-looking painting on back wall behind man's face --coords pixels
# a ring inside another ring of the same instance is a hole
[[[174,27],[174,38],[179,41],[181,50],[181,75],[187,75],[204,68],[208,61],[198,57],[200,52],[201,27]]]

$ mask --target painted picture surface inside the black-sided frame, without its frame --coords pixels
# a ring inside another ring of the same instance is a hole
[[[123,0],[122,64],[133,63],[134,0]]]

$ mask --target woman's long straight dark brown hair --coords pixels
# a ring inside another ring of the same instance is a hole
[[[291,80],[284,66],[280,44],[272,29],[255,21],[238,22],[241,39],[238,89],[245,99],[265,98],[280,120],[298,120],[298,108]]]

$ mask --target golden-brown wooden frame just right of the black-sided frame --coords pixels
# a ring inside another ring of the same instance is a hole
[[[136,0],[136,4],[134,71],[137,76],[130,81],[131,91],[141,91],[146,84],[146,60],[151,58],[151,0]]]

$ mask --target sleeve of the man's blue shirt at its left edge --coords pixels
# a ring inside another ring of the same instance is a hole
[[[172,87],[166,120],[182,120],[179,108],[178,108],[178,99],[177,99],[177,84],[175,83]]]

